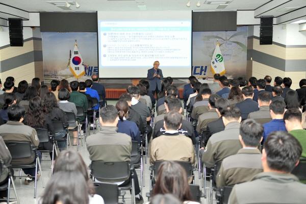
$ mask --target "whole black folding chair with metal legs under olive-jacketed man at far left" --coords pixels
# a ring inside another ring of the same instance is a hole
[[[20,160],[22,158],[29,158],[35,155],[34,162],[31,164],[14,164],[12,165],[13,169],[20,169],[20,175],[19,177],[29,177],[29,176],[21,176],[21,169],[29,169],[29,168],[35,168],[35,176],[31,176],[35,178],[35,185],[34,185],[34,198],[36,198],[36,189],[37,189],[37,165],[39,167],[40,175],[41,175],[41,182],[42,187],[44,188],[44,182],[42,177],[42,171],[41,166],[39,162],[39,158],[37,155],[37,148],[33,147],[30,142],[16,142],[16,141],[5,141],[6,146],[8,147],[11,156],[12,161],[14,160]]]

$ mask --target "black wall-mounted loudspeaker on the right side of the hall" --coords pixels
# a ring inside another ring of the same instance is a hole
[[[260,18],[259,44],[272,44],[273,38],[273,16]]]

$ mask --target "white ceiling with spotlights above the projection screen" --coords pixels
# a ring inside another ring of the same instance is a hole
[[[303,0],[302,0],[303,1]],[[216,10],[218,5],[203,4],[196,7],[198,0],[191,0],[191,6],[186,7],[188,0],[77,0],[81,5],[79,9],[71,6],[71,10],[63,10],[45,0],[0,0],[7,4],[30,12],[40,11],[138,11],[138,5],[145,5],[146,10]],[[269,0],[233,0],[225,10],[254,10]]]

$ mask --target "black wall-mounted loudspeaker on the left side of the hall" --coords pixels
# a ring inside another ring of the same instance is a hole
[[[21,18],[9,18],[10,44],[12,47],[23,46],[23,27]]]

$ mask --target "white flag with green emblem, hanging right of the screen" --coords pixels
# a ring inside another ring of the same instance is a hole
[[[224,67],[224,58],[220,50],[219,42],[217,42],[215,52],[211,60],[211,71],[213,74],[224,75],[226,73]]]

